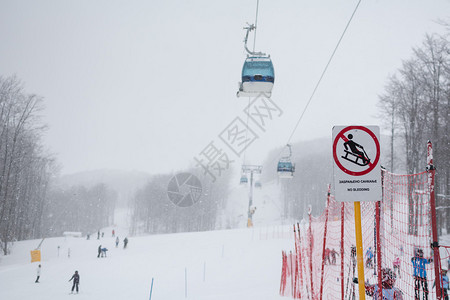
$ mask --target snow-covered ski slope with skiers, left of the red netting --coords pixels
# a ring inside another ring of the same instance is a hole
[[[0,299],[74,297],[68,280],[75,270],[80,274],[79,299],[149,299],[152,278],[152,299],[278,299],[281,250],[292,248],[288,230],[129,237],[127,249],[122,242],[126,233],[120,228],[118,248],[110,229],[100,240],[50,238],[41,247],[40,283],[34,283],[38,263],[30,263],[29,252],[40,241],[17,242],[12,254],[0,261]],[[109,249],[108,257],[97,258],[100,244]]]

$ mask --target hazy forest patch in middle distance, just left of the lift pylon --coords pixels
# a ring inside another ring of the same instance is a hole
[[[176,174],[153,176],[130,202],[131,234],[206,231],[227,227],[223,212],[232,172],[224,172],[214,183],[198,169],[192,168],[188,173],[201,182],[198,201],[187,207],[177,206],[168,196],[168,184]],[[180,187],[180,194],[187,193],[187,187]]]

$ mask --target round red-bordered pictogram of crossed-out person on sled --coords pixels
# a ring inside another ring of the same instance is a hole
[[[371,151],[366,151],[367,149]],[[345,127],[333,141],[333,159],[346,174],[368,174],[380,159],[380,142],[376,135],[364,126]]]

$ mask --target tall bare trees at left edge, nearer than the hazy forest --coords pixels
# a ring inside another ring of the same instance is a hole
[[[0,77],[0,243],[42,237],[53,159],[43,150],[42,97]]]

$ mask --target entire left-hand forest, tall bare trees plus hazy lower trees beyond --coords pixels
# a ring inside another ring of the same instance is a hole
[[[65,192],[52,187],[57,165],[42,145],[42,108],[42,97],[28,94],[16,76],[0,76],[0,247],[4,255],[14,241],[64,230],[97,230],[112,221],[115,196],[105,186]]]

